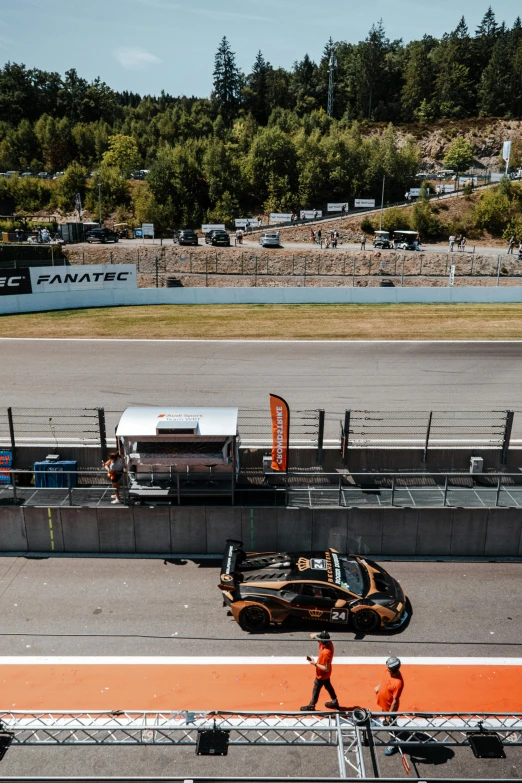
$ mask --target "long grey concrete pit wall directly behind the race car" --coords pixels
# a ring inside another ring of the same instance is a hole
[[[386,556],[522,556],[519,509],[0,508],[0,553],[219,555],[334,547]]]

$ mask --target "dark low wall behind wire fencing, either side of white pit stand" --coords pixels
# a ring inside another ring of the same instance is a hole
[[[6,444],[7,446],[7,444]],[[44,460],[51,452],[57,452],[62,460],[76,460],[79,469],[101,469],[102,452],[99,446],[17,446],[16,467],[19,470],[32,470],[35,462]],[[269,449],[242,448],[240,463],[243,471],[259,470],[263,464],[263,456],[270,454]],[[353,473],[402,470],[419,472],[469,471],[470,457],[480,456],[484,459],[485,471],[501,471],[514,473],[522,468],[522,449],[511,448],[508,452],[507,465],[501,465],[500,449],[429,449],[424,462],[423,449],[409,448],[358,448],[350,449],[348,460],[344,465],[340,447],[325,448],[322,455],[317,449],[290,449],[290,470],[306,470],[321,465],[324,472],[350,470]],[[277,477],[273,477],[277,478]],[[280,477],[279,477],[280,478]]]

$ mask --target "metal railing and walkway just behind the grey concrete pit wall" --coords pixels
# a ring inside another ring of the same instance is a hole
[[[60,470],[59,486],[38,486],[47,471],[2,468],[0,505],[108,506],[114,490],[100,469]],[[55,473],[55,471],[53,471]],[[154,468],[143,484],[143,504],[182,505],[195,498],[220,497],[241,506],[296,508],[522,508],[521,473],[323,473],[312,471],[270,474],[250,480],[216,483],[207,473],[172,471],[158,484]],[[35,486],[36,484],[36,486]],[[147,489],[147,487],[149,487]],[[167,491],[168,489],[168,491]],[[120,489],[124,505],[130,499],[126,476]]]

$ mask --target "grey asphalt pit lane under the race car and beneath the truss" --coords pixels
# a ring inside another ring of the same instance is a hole
[[[409,626],[393,637],[336,633],[338,655],[516,657],[520,654],[522,564],[392,563],[410,596]],[[307,633],[246,636],[221,606],[215,561],[0,560],[0,655],[290,655],[310,652]],[[204,637],[197,639],[194,637]],[[132,688],[132,683],[129,684]],[[1,696],[0,696],[1,699]],[[2,705],[3,706],[3,705]],[[477,762],[441,751],[421,775],[488,778],[520,774],[520,753]],[[381,771],[402,777],[400,759]],[[447,762],[447,763],[444,763]],[[12,748],[2,774],[329,775],[335,749],[233,748],[201,759],[191,748]],[[433,764],[437,764],[434,770]],[[472,766],[471,766],[472,765]]]

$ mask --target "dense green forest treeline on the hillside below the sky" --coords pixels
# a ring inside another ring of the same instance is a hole
[[[332,116],[329,68],[335,60]],[[46,203],[71,211],[76,193],[102,208],[158,226],[294,210],[380,194],[401,196],[419,160],[413,140],[390,126],[366,136],[367,121],[431,121],[522,114],[522,23],[499,24],[491,9],[471,33],[462,19],[441,39],[390,41],[382,23],[358,44],[327,42],[289,71],[259,52],[244,74],[223,39],[209,99],[117,93],[73,69],[61,77],[23,65],[0,69],[0,170],[66,170],[56,187],[7,185],[2,210]],[[129,188],[134,168],[150,169]],[[25,189],[25,190],[24,190]],[[39,194],[36,191],[39,189]],[[20,194],[25,193],[25,202]],[[31,195],[32,194],[32,195]]]

